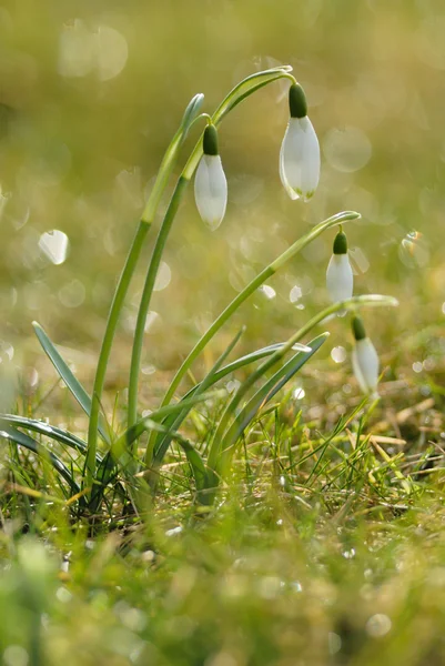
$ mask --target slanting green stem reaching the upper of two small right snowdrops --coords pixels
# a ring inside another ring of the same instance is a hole
[[[191,367],[194,360],[200,355],[206,344],[212,340],[212,337],[218,333],[218,331],[225,324],[225,322],[232,316],[234,312],[240,307],[242,303],[249,296],[254,293],[259,286],[264,284],[264,282],[271,278],[276,271],[279,271],[285,263],[287,263],[291,259],[295,256],[301,250],[303,250],[311,241],[316,239],[321,233],[338,224],[340,222],[347,222],[348,220],[356,220],[360,218],[360,214],[354,211],[346,211],[343,213],[337,213],[323,222],[320,222],[316,226],[314,226],[309,233],[306,233],[303,238],[299,239],[293,243],[283,254],[281,254],[275,261],[273,261],[269,266],[266,266],[256,278],[247,284],[243,289],[242,292],[237,294],[233,299],[233,301],[226,306],[226,309],[220,314],[220,316],[213,322],[213,324],[208,329],[204,335],[196,342],[193,350],[190,352],[185,361],[182,363],[181,367],[176,372],[175,376],[170,384],[170,387],[162,401],[162,406],[170,404],[174,392],[176,391],[179,384],[181,383],[183,376],[186,374],[189,369]]]

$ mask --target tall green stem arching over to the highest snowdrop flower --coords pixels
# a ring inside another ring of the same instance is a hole
[[[210,119],[213,124],[218,125],[222,121],[224,115],[226,115],[242,100],[246,99],[260,88],[263,88],[267,83],[271,83],[272,81],[276,81],[277,79],[282,78],[291,79],[292,81],[294,81],[294,78],[292,77],[292,74],[290,74],[291,69],[292,68],[284,65],[280,68],[273,68],[271,70],[265,70],[263,72],[257,72],[255,74],[252,74],[251,77],[247,77],[231,90],[231,92],[224,98],[224,100],[221,102],[221,104],[219,105],[219,108],[212,117],[209,117],[208,114],[201,114],[200,118],[205,119],[208,122]],[[164,248],[173,224],[174,216],[178,212],[186,185],[191,181],[193,173],[200,162],[202,152],[203,150],[201,137],[198,143],[195,144],[179,178],[178,184],[175,186],[169,208],[166,210],[164,220],[162,222],[160,232],[158,234],[149,271],[146,274],[145,284],[142,292],[142,299],[138,313],[130,366],[128,427],[134,425],[134,423],[138,420],[139,375],[141,367],[144,330],[159,265],[161,263],[162,254],[164,252]],[[154,437],[155,434],[153,435],[153,441]],[[133,452],[135,451],[135,447],[136,443],[133,444]],[[149,446],[148,451],[151,451],[151,448],[152,447]]]

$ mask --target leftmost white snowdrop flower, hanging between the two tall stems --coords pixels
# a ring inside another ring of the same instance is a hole
[[[224,218],[227,203],[227,181],[218,151],[218,132],[213,124],[204,130],[204,154],[194,179],[194,199],[201,219],[212,231],[218,229]]]

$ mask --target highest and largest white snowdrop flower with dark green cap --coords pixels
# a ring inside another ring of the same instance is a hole
[[[314,194],[320,179],[320,145],[303,88],[293,83],[289,90],[291,118],[280,152],[280,178],[291,199]]]

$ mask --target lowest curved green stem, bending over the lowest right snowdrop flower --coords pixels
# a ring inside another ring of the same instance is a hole
[[[272,367],[272,365],[274,365],[275,363],[281,361],[296,342],[300,342],[305,335],[307,335],[312,331],[312,329],[314,329],[321,322],[323,322],[327,317],[332,316],[333,314],[336,314],[337,312],[342,312],[345,310],[347,310],[347,311],[356,310],[361,306],[366,306],[366,305],[368,305],[368,306],[370,305],[371,306],[375,306],[375,305],[377,305],[377,306],[382,306],[382,305],[396,306],[396,305],[398,305],[398,301],[396,299],[394,299],[393,296],[382,296],[380,294],[371,294],[371,295],[363,295],[363,296],[353,296],[352,299],[348,299],[347,301],[340,301],[337,303],[334,303],[333,305],[330,305],[325,310],[322,310],[322,312],[318,312],[318,314],[313,316],[304,326],[302,326],[299,331],[296,331],[293,335],[291,335],[291,337],[287,340],[287,342],[285,344],[283,344],[279,350],[276,350],[276,352],[274,352],[272,354],[272,356],[266,359],[266,361],[264,361],[245,380],[245,382],[243,382],[243,384],[236,391],[235,395],[233,396],[233,398],[231,400],[231,402],[224,410],[224,413],[221,417],[219,426],[215,431],[215,434],[214,434],[214,437],[212,441],[212,445],[211,445],[211,448],[209,452],[209,458],[208,458],[208,466],[210,470],[216,471],[219,467],[221,467],[220,453],[221,453],[222,444],[225,444],[225,438],[224,438],[223,434],[225,432],[226,426],[229,425],[232,414],[234,413],[234,411],[236,410],[237,405],[240,404],[240,402],[242,401],[244,395],[247,393],[247,391],[253,386],[253,384],[261,376],[263,376],[264,373],[267,372],[267,370],[270,370],[270,367]],[[230,431],[229,431],[229,433],[230,433]],[[233,445],[233,442],[229,437],[227,446],[226,446],[225,451],[223,451],[222,453],[224,454],[225,452],[230,451],[232,445]],[[227,454],[225,453],[225,455],[227,455]],[[224,461],[224,465],[223,465],[224,467],[225,467],[225,463],[226,463],[226,461]],[[221,472],[221,470],[219,470],[219,472]],[[216,478],[215,475],[213,475],[213,477]]]

